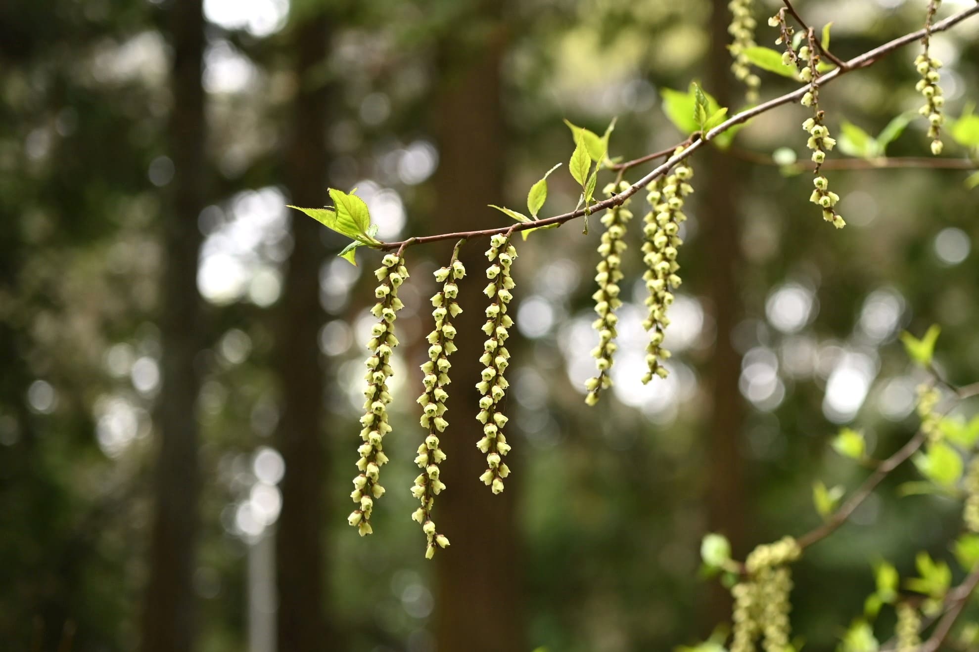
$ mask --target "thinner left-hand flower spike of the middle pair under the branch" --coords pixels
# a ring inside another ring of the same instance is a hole
[[[618,187],[610,183],[605,186],[604,193],[606,197],[612,197],[628,188],[628,181],[620,181]],[[627,247],[623,238],[626,235],[626,225],[632,218],[632,212],[626,208],[628,205],[629,199],[619,206],[606,210],[601,219],[605,232],[602,233],[601,244],[598,245],[598,255],[602,258],[595,267],[595,283],[598,284],[598,290],[591,295],[595,300],[595,312],[598,313],[598,318],[591,324],[598,331],[598,346],[591,350],[598,375],[584,383],[584,388],[588,391],[584,402],[588,405],[597,403],[599,392],[612,387],[609,369],[613,364],[612,356],[618,349],[615,338],[619,317],[615,311],[622,305],[622,300],[619,299],[621,291],[619,281],[623,278],[622,255]]]

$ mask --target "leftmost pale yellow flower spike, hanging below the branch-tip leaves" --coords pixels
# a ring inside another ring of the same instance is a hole
[[[363,443],[357,448],[360,459],[357,469],[360,475],[353,479],[353,491],[350,497],[357,503],[357,508],[350,513],[348,523],[357,529],[360,536],[373,532],[370,525],[374,500],[384,494],[384,488],[379,482],[381,467],[388,462],[384,454],[382,440],[391,432],[388,424],[388,403],[391,394],[388,391],[388,378],[392,375],[391,354],[397,346],[395,337],[395,315],[403,307],[397,298],[397,288],[408,277],[404,266],[404,258],[397,254],[388,254],[380,267],[374,272],[380,285],[374,291],[378,302],[371,312],[379,321],[371,328],[371,339],[367,349],[371,350],[367,358],[367,389],[364,390],[364,415],[360,417],[360,439]]]

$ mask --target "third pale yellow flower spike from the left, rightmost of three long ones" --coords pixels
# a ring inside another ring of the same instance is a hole
[[[483,438],[476,445],[486,453],[488,465],[480,480],[493,493],[503,490],[503,479],[510,475],[509,467],[503,462],[503,457],[510,451],[510,444],[503,435],[507,418],[500,410],[500,401],[510,386],[503,378],[503,372],[510,364],[510,351],[504,345],[510,337],[509,328],[513,326],[513,319],[506,314],[507,306],[513,299],[510,291],[514,287],[510,265],[517,257],[517,250],[510,244],[512,234],[511,229],[505,235],[497,233],[489,240],[489,285],[484,292],[492,303],[487,307],[487,323],[483,325],[487,341],[483,345],[480,362],[485,368],[482,380],[476,384],[476,389],[483,395],[480,398],[480,413],[476,417],[483,424]]]

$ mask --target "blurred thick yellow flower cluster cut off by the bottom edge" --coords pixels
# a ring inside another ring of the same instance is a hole
[[[766,652],[788,649],[792,576],[788,564],[802,549],[791,536],[755,548],[745,561],[747,578],[735,584],[731,652],[753,652],[762,637]]]

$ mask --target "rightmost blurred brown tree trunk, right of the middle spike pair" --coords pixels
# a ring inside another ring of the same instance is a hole
[[[709,90],[723,107],[741,104],[732,97],[730,84],[730,53],[727,24],[730,16],[727,0],[714,0],[711,18],[711,51],[708,61]],[[735,92],[742,92],[741,88]],[[710,485],[708,489],[708,527],[723,533],[736,551],[743,545],[745,519],[748,518],[744,496],[744,463],[741,457],[741,438],[744,423],[744,403],[738,389],[741,356],[731,342],[731,331],[741,313],[740,291],[737,285],[741,236],[738,224],[736,166],[725,160],[717,149],[708,148],[708,169],[700,176],[705,198],[703,211],[710,262],[710,298],[717,320],[717,342],[711,357],[711,412],[705,433],[709,451]],[[712,594],[706,615],[711,624],[729,617],[728,596],[718,587]]]

